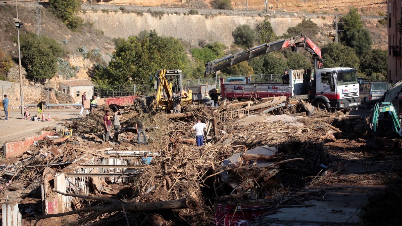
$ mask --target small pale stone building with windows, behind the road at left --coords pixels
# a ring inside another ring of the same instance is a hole
[[[59,83],[59,91],[70,94],[74,100],[81,103],[81,96],[86,92],[86,99],[94,95],[94,84],[90,80],[67,80]]]

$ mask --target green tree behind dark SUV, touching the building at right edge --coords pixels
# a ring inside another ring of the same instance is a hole
[[[376,74],[387,74],[387,51],[382,49],[371,49],[363,54],[360,62],[360,70],[367,77]]]

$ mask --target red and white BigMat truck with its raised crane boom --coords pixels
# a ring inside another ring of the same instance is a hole
[[[287,47],[291,47],[292,51],[297,51],[297,47],[308,50],[313,55],[314,69],[289,70],[289,82],[250,82],[246,79],[246,84],[244,82],[225,84],[221,78],[221,96],[238,99],[286,96],[307,100],[316,107],[337,110],[353,109],[361,105],[357,70],[355,68],[322,68],[321,50],[308,37],[301,34],[208,62],[205,65],[205,76]]]

